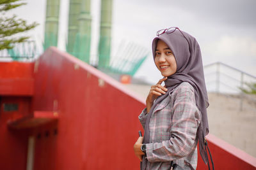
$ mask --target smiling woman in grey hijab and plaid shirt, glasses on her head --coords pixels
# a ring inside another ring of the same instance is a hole
[[[198,141],[207,162],[204,139],[209,132],[200,47],[193,36],[170,27],[157,31],[152,52],[164,78],[151,87],[139,116],[145,135],[134,144],[134,153],[141,169],[170,169],[173,162],[196,169]]]

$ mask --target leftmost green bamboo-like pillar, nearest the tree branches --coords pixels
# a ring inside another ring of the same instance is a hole
[[[58,45],[60,0],[47,0],[45,16],[44,50]]]

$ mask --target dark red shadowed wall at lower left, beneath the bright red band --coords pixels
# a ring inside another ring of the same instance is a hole
[[[11,131],[7,122],[28,115],[30,110],[29,97],[1,96],[0,107],[0,169],[26,169],[28,132]],[[18,111],[4,111],[4,103],[19,103]]]

